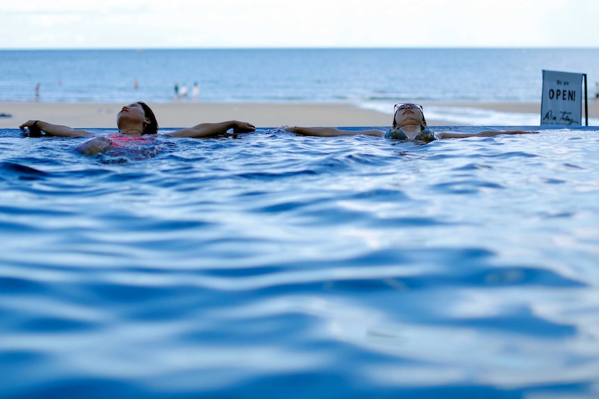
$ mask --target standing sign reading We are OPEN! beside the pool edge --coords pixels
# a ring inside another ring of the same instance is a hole
[[[541,125],[581,126],[583,97],[586,110],[586,74],[543,70]]]

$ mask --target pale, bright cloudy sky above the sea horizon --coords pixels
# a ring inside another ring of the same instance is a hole
[[[0,3],[0,49],[296,47],[599,47],[599,1]]]

